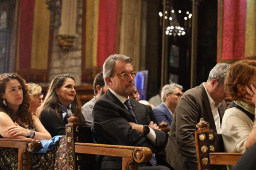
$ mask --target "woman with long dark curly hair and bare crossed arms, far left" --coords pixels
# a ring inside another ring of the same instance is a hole
[[[0,138],[51,139],[51,135],[40,120],[29,111],[30,97],[24,79],[16,73],[0,75],[0,96]],[[62,154],[62,148],[66,147],[65,139],[59,140],[54,149],[47,153],[33,154],[31,169],[66,167],[66,161],[58,160]],[[0,167],[17,169],[18,152],[18,148],[0,148]],[[66,155],[66,153],[63,154]]]

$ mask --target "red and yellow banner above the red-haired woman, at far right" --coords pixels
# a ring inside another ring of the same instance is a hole
[[[256,1],[219,0],[218,62],[256,59]]]

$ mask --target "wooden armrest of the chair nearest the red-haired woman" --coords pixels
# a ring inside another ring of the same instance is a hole
[[[211,164],[236,164],[244,153],[210,153]]]

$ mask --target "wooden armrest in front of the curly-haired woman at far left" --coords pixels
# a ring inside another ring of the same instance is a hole
[[[39,152],[41,150],[40,140],[35,139],[0,139],[0,147],[23,148],[28,152]]]

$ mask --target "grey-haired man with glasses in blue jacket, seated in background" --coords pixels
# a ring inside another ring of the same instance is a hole
[[[183,87],[179,84],[166,84],[161,92],[162,103],[153,109],[158,124],[162,121],[168,123],[168,128],[171,127],[173,121],[174,110],[181,99]]]

